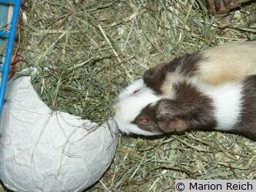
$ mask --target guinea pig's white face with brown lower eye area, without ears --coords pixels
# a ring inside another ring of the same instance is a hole
[[[150,88],[143,88],[116,105],[115,121],[126,134],[159,134],[154,105],[161,99]]]

